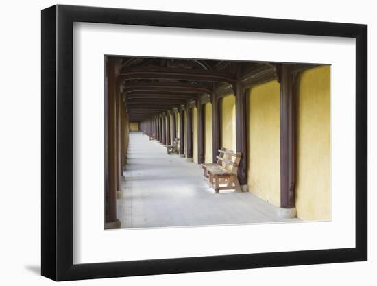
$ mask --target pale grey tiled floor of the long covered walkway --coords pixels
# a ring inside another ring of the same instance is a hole
[[[117,200],[121,228],[282,222],[276,207],[252,193],[215,191],[202,168],[138,132],[130,134],[125,198]],[[297,219],[285,219],[292,222]]]

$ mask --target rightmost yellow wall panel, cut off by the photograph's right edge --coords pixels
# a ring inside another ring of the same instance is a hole
[[[297,85],[297,217],[330,219],[330,66],[302,72]]]

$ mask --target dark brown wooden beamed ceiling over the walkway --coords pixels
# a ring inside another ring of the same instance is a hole
[[[237,80],[276,73],[269,63],[182,58],[117,57],[118,82],[130,121],[209,101],[213,92],[232,93]]]

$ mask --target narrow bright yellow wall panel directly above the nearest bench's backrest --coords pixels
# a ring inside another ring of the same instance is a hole
[[[229,95],[221,100],[221,147],[236,151],[235,97]]]

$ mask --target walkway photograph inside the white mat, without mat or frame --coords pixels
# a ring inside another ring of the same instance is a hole
[[[104,55],[105,229],[330,221],[331,64]]]

